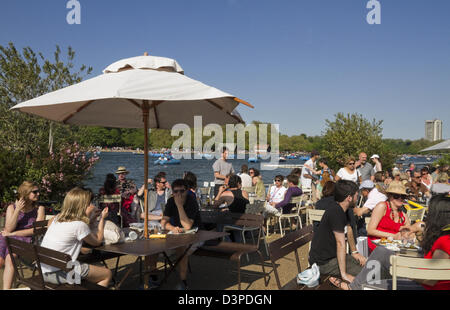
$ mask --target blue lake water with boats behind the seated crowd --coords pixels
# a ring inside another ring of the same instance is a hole
[[[185,171],[192,171],[197,175],[197,184],[199,187],[203,186],[203,182],[213,182],[214,173],[212,165],[215,159],[181,159],[179,165],[153,165],[155,158],[149,158],[149,177],[153,178],[158,172],[164,171],[167,174],[169,182],[175,179],[182,178]],[[246,159],[233,159],[229,160],[233,164],[233,168],[236,172],[241,170],[243,164],[248,165],[249,168],[256,168],[261,171],[264,183],[272,183],[276,175],[288,175],[292,168],[278,168],[275,170],[261,170],[261,164],[249,163]],[[269,161],[263,161],[269,163]],[[304,161],[298,159],[287,160],[281,165],[302,165]],[[119,166],[125,166],[130,174],[128,178],[136,182],[138,187],[144,183],[144,155],[132,154],[132,153],[109,153],[102,152],[100,154],[100,160],[93,168],[93,177],[85,181],[85,185],[91,188],[94,193],[103,186],[106,175],[108,173],[114,173]]]

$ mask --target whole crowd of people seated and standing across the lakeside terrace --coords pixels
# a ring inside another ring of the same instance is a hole
[[[430,174],[425,167],[416,170],[410,167],[405,172],[394,168],[392,172],[382,170],[378,155],[373,155],[373,165],[367,155],[360,153],[359,160],[348,157],[342,161],[344,167],[337,173],[328,167],[326,158],[313,151],[302,169],[295,168],[286,177],[276,175],[267,192],[256,168],[241,167],[239,174],[226,162],[227,151],[215,163],[213,206],[233,213],[245,213],[250,201],[262,202],[261,213],[267,221],[272,216],[289,214],[294,207],[294,197],[306,197],[318,210],[324,210],[320,222],[314,223],[314,235],[309,252],[309,263],[317,264],[320,273],[331,276],[330,282],[341,289],[361,289],[370,272],[369,261],[378,260],[383,268],[383,287],[391,287],[389,272],[389,250],[373,243],[375,239],[417,239],[425,251],[425,258],[450,258],[448,166],[439,167]],[[227,172],[227,173],[225,173]],[[42,246],[71,255],[73,260],[84,253],[85,247],[95,247],[104,241],[105,223],[111,222],[120,228],[145,220],[145,201],[148,208],[148,223],[151,231],[180,233],[201,227],[201,193],[197,188],[197,177],[185,172],[182,179],[168,182],[165,172],[159,172],[139,189],[133,180],[127,179],[129,171],[119,167],[106,176],[99,190],[102,197],[120,197],[118,200],[94,205],[91,191],[74,188],[65,196],[60,213],[48,224]],[[306,196],[305,196],[306,195]],[[429,213],[425,222],[411,222],[404,204],[407,200],[429,202]],[[8,253],[5,237],[31,242],[33,223],[45,219],[45,208],[38,205],[39,188],[35,183],[24,182],[18,189],[18,199],[8,206],[6,224],[0,234],[0,268],[3,272],[3,289],[10,289],[14,279],[14,267]],[[366,229],[365,219],[370,217]],[[219,231],[220,225],[216,227]],[[265,228],[265,227],[264,227]],[[234,242],[241,235],[232,233]],[[367,237],[370,256],[362,256],[356,249],[357,238]],[[348,243],[349,252],[346,244]],[[201,244],[194,244],[179,264],[181,282],[177,288],[188,287],[186,278],[189,255]],[[186,248],[175,251],[177,257]],[[146,266],[156,269],[158,255],[148,257]],[[42,264],[46,282],[65,283],[66,274],[61,270]],[[81,265],[81,277],[98,285],[111,284],[111,271],[91,264]],[[405,287],[426,289],[450,289],[449,281],[426,281],[405,283]],[[150,277],[150,287],[158,286],[158,277]]]

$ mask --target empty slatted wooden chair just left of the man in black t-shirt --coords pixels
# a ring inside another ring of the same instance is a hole
[[[320,276],[319,285],[314,288],[309,288],[306,285],[297,284],[297,275],[301,272],[300,259],[298,249],[311,242],[313,237],[313,226],[308,225],[300,230],[291,232],[280,239],[269,243],[270,261],[272,263],[275,279],[277,281],[278,289],[280,290],[335,290],[336,288],[329,283],[328,276]],[[295,277],[281,285],[280,277],[276,262],[286,255],[294,252],[295,261],[297,263],[297,273]]]

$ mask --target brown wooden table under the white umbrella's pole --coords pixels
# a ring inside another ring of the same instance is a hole
[[[124,243],[118,243],[118,244],[110,244],[110,245],[104,245],[102,247],[96,248],[97,251],[103,251],[103,252],[110,252],[110,253],[117,253],[117,254],[124,254],[124,255],[133,255],[137,256],[138,260],[141,260],[142,257],[149,257],[155,254],[163,253],[164,256],[168,259],[167,251],[174,250],[180,247],[187,247],[185,252],[181,257],[178,258],[178,260],[172,264],[169,261],[169,264],[171,266],[169,273],[165,276],[162,283],[163,284],[169,275],[175,270],[175,267],[178,265],[178,263],[184,258],[184,256],[188,253],[189,249],[192,247],[193,244],[205,242],[212,239],[222,238],[224,236],[228,235],[228,233],[224,232],[217,232],[217,231],[207,231],[207,230],[199,230],[195,234],[167,234],[165,239],[138,239],[131,242],[124,242]],[[141,260],[142,262],[142,260]],[[132,269],[131,267],[126,272],[120,283],[117,285],[119,288],[124,280],[129,276]],[[144,274],[148,275],[146,271],[144,271]],[[140,276],[142,277],[142,268],[140,268]],[[147,276],[144,279],[144,287],[147,288]]]

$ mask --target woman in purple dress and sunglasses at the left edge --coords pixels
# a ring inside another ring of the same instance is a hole
[[[5,237],[12,237],[25,242],[31,242],[33,223],[45,219],[45,208],[38,206],[39,188],[33,182],[25,181],[18,189],[18,200],[8,206],[6,223],[0,233],[0,268],[3,272],[3,289],[11,288],[14,278],[14,266],[8,253]]]

